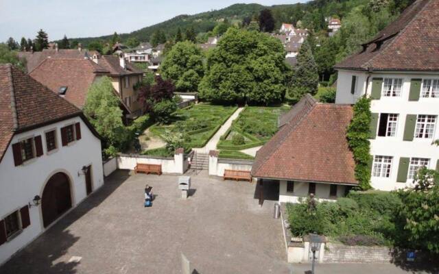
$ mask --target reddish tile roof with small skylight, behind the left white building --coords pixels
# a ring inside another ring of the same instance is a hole
[[[83,108],[88,88],[99,75],[108,74],[102,66],[88,59],[48,58],[29,73],[34,79],[58,94],[61,86],[67,86],[64,99]]]

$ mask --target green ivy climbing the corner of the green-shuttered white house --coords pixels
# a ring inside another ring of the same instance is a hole
[[[368,190],[370,186],[370,141],[369,129],[372,114],[370,99],[361,97],[353,107],[353,119],[348,126],[346,138],[353,152],[355,160],[355,179],[361,190]]]

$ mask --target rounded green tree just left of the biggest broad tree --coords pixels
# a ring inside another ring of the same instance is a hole
[[[193,42],[178,42],[163,60],[161,71],[172,79],[178,91],[198,91],[198,84],[204,75],[203,54]]]

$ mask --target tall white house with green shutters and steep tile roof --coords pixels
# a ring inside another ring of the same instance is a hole
[[[372,187],[412,186],[439,169],[439,0],[417,0],[363,49],[335,66],[335,103],[371,101]]]

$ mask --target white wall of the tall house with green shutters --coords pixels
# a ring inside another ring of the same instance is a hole
[[[357,75],[355,94],[351,95],[352,75]],[[338,71],[337,79],[337,96],[335,103],[353,104],[364,94],[370,96],[372,92],[372,78],[401,78],[403,86],[401,88],[401,97],[382,97],[379,100],[372,100],[370,111],[372,113],[396,113],[399,114],[398,124],[396,126],[396,136],[380,137],[370,140],[371,155],[388,155],[393,156],[392,169],[390,177],[372,177],[371,184],[373,188],[380,190],[394,190],[412,186],[412,179],[406,182],[396,182],[399,168],[399,159],[404,158],[429,158],[429,169],[436,168],[436,162],[439,160],[439,147],[431,145],[433,140],[439,139],[439,98],[419,98],[419,101],[409,101],[411,79],[439,79],[439,73],[419,73],[419,72],[373,72],[362,71]],[[366,82],[368,81],[367,90]],[[421,86],[422,92],[422,86]],[[431,139],[416,139],[404,141],[403,134],[405,128],[405,119],[407,114],[431,114],[436,115],[436,128],[434,137]]]

